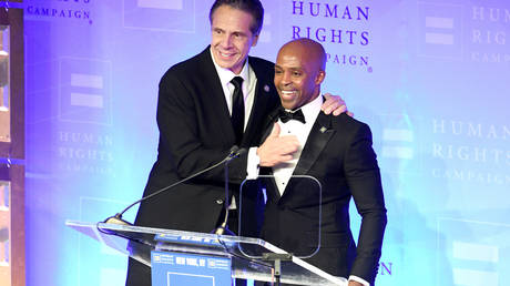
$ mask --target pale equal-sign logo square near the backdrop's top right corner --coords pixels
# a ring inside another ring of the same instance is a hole
[[[462,60],[462,7],[419,3],[418,11],[418,54]]]

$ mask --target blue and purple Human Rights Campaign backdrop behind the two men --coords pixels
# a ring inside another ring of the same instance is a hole
[[[28,285],[123,285],[126,259],[64,222],[101,221],[141,196],[156,155],[159,80],[208,44],[212,2],[21,4]],[[373,129],[388,208],[377,284],[504,285],[510,3],[263,3],[251,54],[274,61],[297,28],[302,37],[309,28],[330,57],[323,91]]]

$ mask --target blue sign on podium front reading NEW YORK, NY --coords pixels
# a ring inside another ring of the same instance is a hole
[[[232,285],[230,258],[153,251],[151,261],[155,286]]]

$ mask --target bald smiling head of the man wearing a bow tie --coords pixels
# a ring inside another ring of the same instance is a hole
[[[298,109],[319,95],[326,75],[322,67],[317,48],[306,40],[292,41],[279,50],[275,85],[285,109]]]

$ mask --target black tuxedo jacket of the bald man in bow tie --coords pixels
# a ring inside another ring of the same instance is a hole
[[[320,248],[306,261],[329,274],[356,275],[373,285],[387,218],[368,125],[345,113],[320,112],[293,175],[310,175],[322,184]],[[290,178],[280,196],[274,180],[267,182],[264,239],[302,255],[315,249],[319,201],[309,183]],[[351,197],[361,216],[357,246],[349,226]]]

